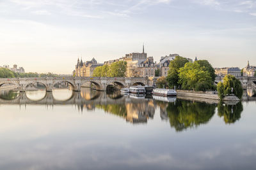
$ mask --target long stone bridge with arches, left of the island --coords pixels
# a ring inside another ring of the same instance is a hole
[[[67,82],[74,91],[81,91],[85,83],[90,82],[96,86],[97,90],[106,91],[108,85],[120,85],[120,87],[130,87],[132,85],[148,85],[147,78],[120,78],[120,77],[45,77],[45,78],[0,78],[0,87],[4,84],[16,85],[20,92],[24,92],[26,87],[33,83],[42,83],[47,92],[52,92],[56,83]]]

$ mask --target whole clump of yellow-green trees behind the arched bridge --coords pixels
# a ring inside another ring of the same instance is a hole
[[[126,69],[127,69],[127,62],[125,61],[113,62],[111,65],[105,64],[104,66],[96,67],[93,71],[93,76],[124,77]]]

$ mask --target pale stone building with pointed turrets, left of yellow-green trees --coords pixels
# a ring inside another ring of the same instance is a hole
[[[83,62],[83,60],[77,60],[76,69],[73,72],[74,76],[93,76],[93,71],[96,67],[103,66],[99,64],[94,58],[90,61]]]

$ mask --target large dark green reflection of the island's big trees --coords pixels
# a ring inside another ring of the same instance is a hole
[[[206,124],[215,113],[215,104],[180,101],[169,103],[167,108],[170,125],[176,131]]]

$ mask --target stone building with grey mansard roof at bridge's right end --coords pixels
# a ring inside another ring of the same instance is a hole
[[[141,62],[138,66],[140,77],[152,77],[155,76],[155,71],[157,69],[157,64],[154,63],[153,57],[148,57],[147,60]]]

